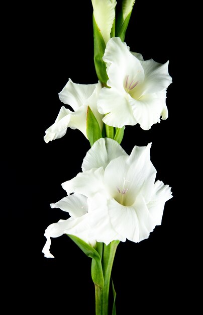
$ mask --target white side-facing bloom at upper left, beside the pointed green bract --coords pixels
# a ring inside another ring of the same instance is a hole
[[[55,123],[49,127],[44,136],[45,142],[61,138],[65,135],[67,127],[79,129],[87,138],[86,135],[86,115],[87,106],[89,106],[96,117],[100,129],[102,130],[104,115],[101,115],[96,106],[98,94],[101,85],[97,84],[75,84],[70,78],[66,86],[59,93],[59,99],[64,104],[68,104],[74,111],[61,107]]]

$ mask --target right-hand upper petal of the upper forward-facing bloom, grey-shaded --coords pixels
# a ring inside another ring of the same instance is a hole
[[[168,61],[162,64],[150,59],[141,61],[141,64],[145,72],[143,94],[161,92],[172,83],[168,73]]]

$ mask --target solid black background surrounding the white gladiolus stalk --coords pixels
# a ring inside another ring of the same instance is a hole
[[[134,314],[138,308],[163,313],[181,310],[181,296],[185,296],[180,292],[188,283],[183,267],[192,249],[181,196],[181,186],[186,185],[183,150],[188,131],[180,93],[186,29],[184,8],[178,3],[177,7],[171,1],[137,0],[126,33],[131,50],[142,53],[144,59],[169,60],[173,83],[167,90],[169,118],[149,131],[127,126],[122,146],[130,154],[134,145],[152,142],[157,179],[172,187],[173,198],[165,204],[162,225],[149,239],[118,247],[112,272],[117,315]],[[68,78],[80,84],[97,82],[91,1],[33,3],[18,7],[18,12],[7,38],[11,67],[6,78],[2,154],[1,252],[4,296],[10,301],[7,309],[93,315],[91,260],[66,235],[52,239],[55,259],[41,253],[45,228],[67,218],[49,204],[66,195],[61,183],[81,171],[89,149],[78,130],[69,128],[63,138],[48,144],[43,136],[63,105],[58,93]]]

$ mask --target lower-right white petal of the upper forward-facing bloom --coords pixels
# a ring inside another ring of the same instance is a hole
[[[149,130],[153,124],[160,122],[162,115],[163,119],[168,117],[165,100],[165,91],[143,95],[139,100],[129,98],[134,117],[142,129]]]

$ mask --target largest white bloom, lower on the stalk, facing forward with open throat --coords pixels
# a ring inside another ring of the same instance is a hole
[[[110,138],[100,138],[87,152],[82,173],[62,184],[67,194],[85,196],[91,237],[140,242],[161,224],[165,202],[172,197],[168,185],[155,182],[150,147],[135,146],[130,155]]]

